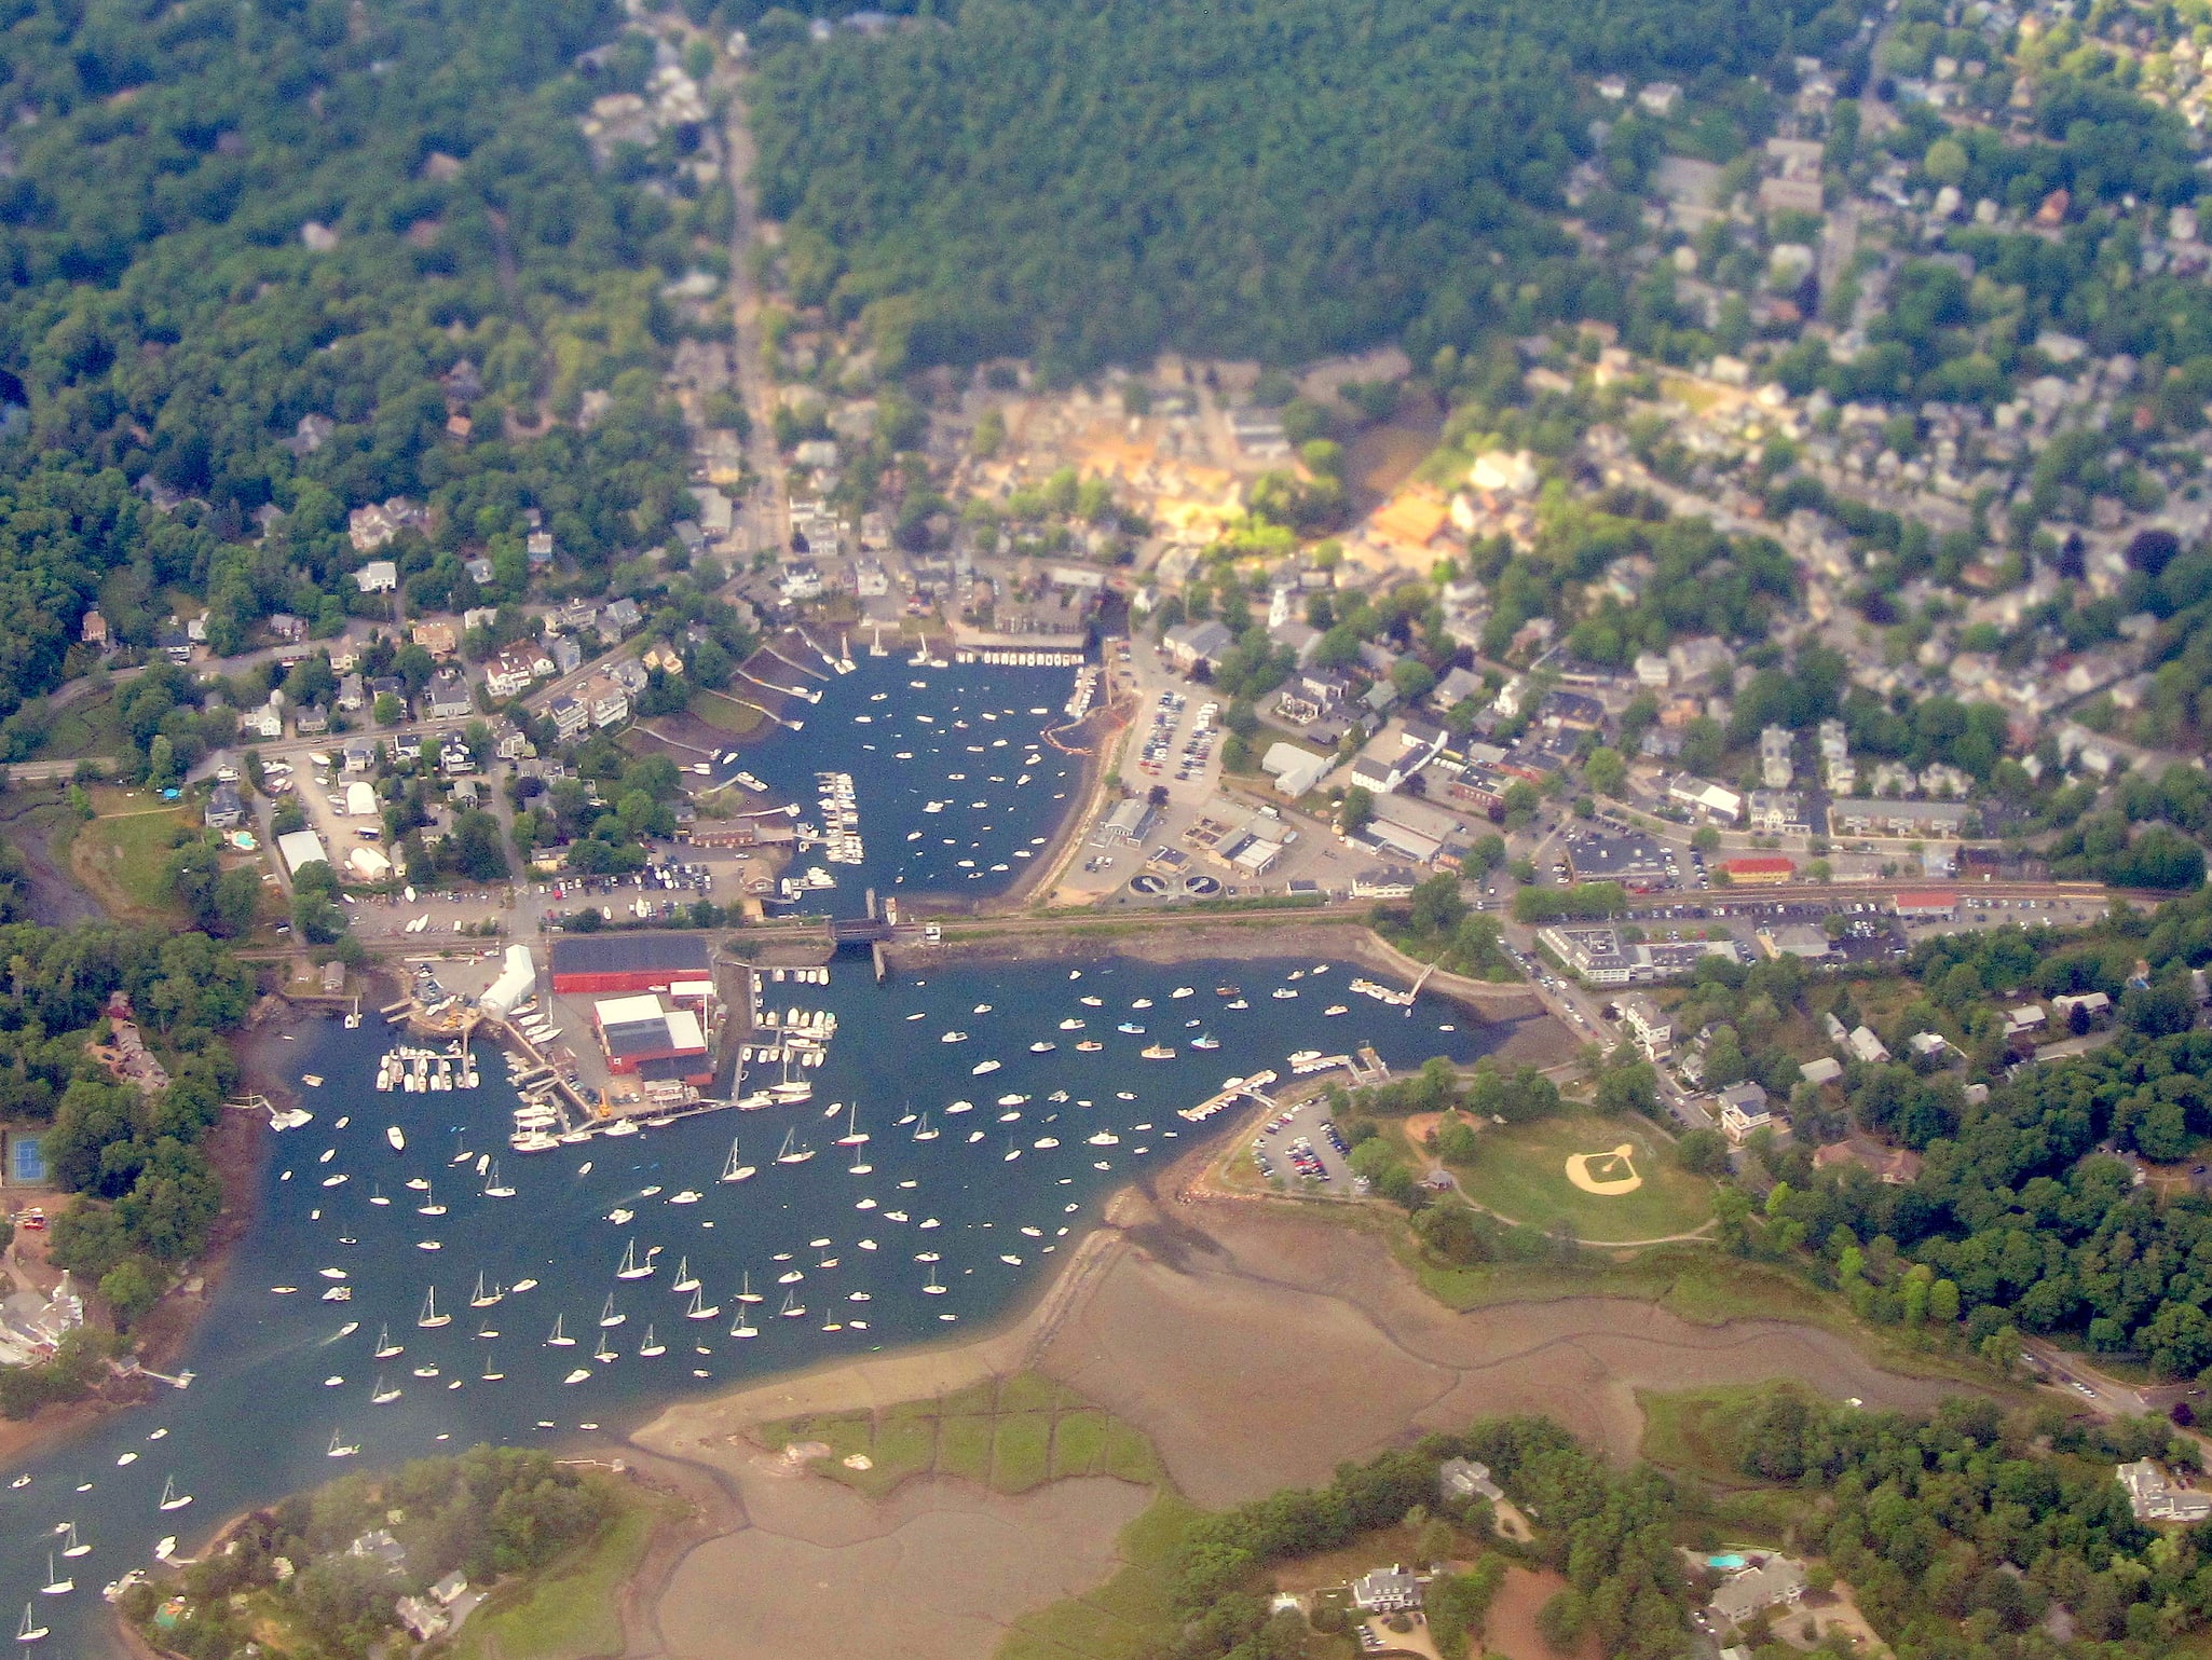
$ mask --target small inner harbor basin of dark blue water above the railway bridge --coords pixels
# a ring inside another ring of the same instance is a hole
[[[792,656],[801,656],[792,648]],[[818,824],[816,771],[852,776],[860,807],[860,864],[827,864],[803,853],[794,873],[821,864],[836,889],[805,895],[799,908],[860,915],[867,889],[878,895],[929,891],[951,900],[1004,893],[1044,855],[1075,807],[1082,767],[1053,749],[1044,732],[1066,723],[1073,670],[916,668],[907,656],[860,656],[852,674],[827,683],[779,670],[823,701],[792,701],[801,732],[770,727],[721,771],[752,771],[794,800],[801,822]]]

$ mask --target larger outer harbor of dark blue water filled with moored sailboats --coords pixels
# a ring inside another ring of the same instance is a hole
[[[53,1627],[49,1653],[93,1653],[106,1629],[100,1587],[148,1563],[164,1534],[190,1552],[239,1510],[356,1468],[476,1441],[613,1441],[686,1393],[978,1331],[1042,1284],[1115,1187],[1234,1121],[1223,1114],[1199,1130],[1175,1116],[1225,1076],[1281,1070],[1296,1048],[1374,1043],[1394,1065],[1431,1054],[1471,1059],[1504,1032],[1440,1030],[1458,1028],[1460,1017],[1427,997],[1411,1012],[1356,997],[1343,966],[1301,977],[1298,997],[1276,1001],[1272,988],[1292,986],[1294,968],[1312,964],[1157,968],[1104,959],[1082,962],[1079,979],[1068,977],[1068,964],[1024,964],[949,968],[887,988],[858,970],[838,970],[827,988],[770,984],[763,995],[776,1008],[838,1015],[830,1061],[814,1072],[814,1103],[719,1112],[531,1156],[507,1147],[515,1096],[498,1052],[480,1052],[484,1085],[473,1092],[378,1094],[376,1059],[394,1034],[347,1032],[336,1021],[305,1028],[283,1048],[296,1050],[285,1057],[296,1072],[325,1079],[321,1090],[301,1090],[316,1118],[270,1138],[261,1209],[181,1362],[197,1379],[27,1465],[29,1488],[0,1485],[0,1620],[13,1627],[31,1598]],[[1225,1008],[1217,995],[1223,984],[1241,986],[1250,1008]],[[1192,995],[1175,997],[1179,986]],[[1150,1008],[1130,1008],[1146,997]],[[1349,1012],[1325,1017],[1336,1001]],[[1082,1019],[1086,1030],[1064,1032],[1064,1019]],[[1117,1032],[1119,1021],[1146,1032]],[[967,1039],[942,1041],[953,1030]],[[1221,1048],[1190,1050],[1199,1032],[1219,1037]],[[1086,1037],[1106,1048],[1077,1052]],[[1057,1048],[1031,1054],[1035,1041]],[[1172,1046],[1177,1059],[1139,1059],[1148,1043]],[[1000,1070],[978,1076],[973,1068],[987,1059]],[[1060,1090],[1066,1101],[1046,1099]],[[1029,1099],[1000,1105],[1009,1094]],[[973,1107],[953,1112],[958,1101]],[[847,1114],[825,1116],[832,1103],[856,1103],[867,1143],[834,1145]],[[898,1123],[909,1112],[927,1112],[940,1136],[916,1141],[920,1118]],[[405,1132],[405,1152],[392,1152],[387,1125]],[[785,1132],[816,1156],[776,1165]],[[1099,1132],[1119,1143],[1091,1145]],[[723,1185],[717,1178],[732,1136],[759,1174]],[[460,1152],[471,1158],[453,1163]],[[513,1198],[484,1196],[476,1154],[498,1156]],[[863,1163],[867,1172],[852,1169]],[[345,1180],[332,1183],[336,1176]],[[429,1183],[429,1191],[409,1180]],[[648,1196],[646,1187],[661,1191]],[[701,1198],[670,1202],[686,1189]],[[374,1205],[378,1196],[389,1202]],[[445,1214],[422,1216],[422,1205]],[[608,1220],[617,1207],[635,1211],[633,1220]],[[440,1249],[420,1249],[427,1240]],[[639,1258],[653,1251],[650,1278],[617,1280],[626,1244]],[[918,1262],[925,1251],[940,1260]],[[670,1291],[679,1260],[699,1275],[703,1302],[719,1306],[712,1320],[688,1320],[688,1297]],[[945,1295],[922,1291],[931,1267]],[[779,1284],[792,1271],[803,1278]],[[540,1284],[471,1309],[478,1273],[487,1286]],[[730,1335],[745,1273],[765,1295],[752,1304],[752,1339]],[[323,1302],[338,1284],[352,1300]],[[420,1328],[434,1286],[451,1324]],[[803,1300],[803,1317],[776,1317],[785,1289]],[[622,1324],[602,1328],[608,1297]],[[573,1348],[546,1346],[555,1315],[577,1339]],[[358,1324],[343,1333],[349,1322]],[[827,1331],[832,1324],[838,1328]],[[648,1326],[666,1346],[659,1357],[639,1355]],[[385,1328],[405,1353],[376,1359]],[[591,1357],[602,1331],[617,1355],[606,1364]],[[436,1366],[436,1375],[416,1377],[418,1366]],[[580,1366],[588,1377],[564,1384]],[[484,1381],[487,1370],[504,1377]],[[378,1379],[400,1397],[372,1404]],[[157,1430],[166,1435],[153,1439]],[[361,1452],[327,1457],[334,1435]],[[119,1465],[126,1452],[137,1459]],[[161,1514],[168,1477],[192,1503]],[[77,1492],[80,1483],[91,1490]],[[93,1552],[69,1565],[73,1594],[38,1596],[51,1532],[66,1521]]]

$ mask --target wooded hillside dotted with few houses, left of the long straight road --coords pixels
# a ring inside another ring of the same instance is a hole
[[[336,632],[347,511],[392,495],[431,508],[403,577],[462,544],[520,572],[529,508],[602,572],[681,517],[661,287],[726,270],[728,192],[675,155],[595,164],[577,117],[653,69],[619,22],[0,13],[0,716],[73,672],[95,606],[139,648],[181,597],[226,654],[276,610]]]

